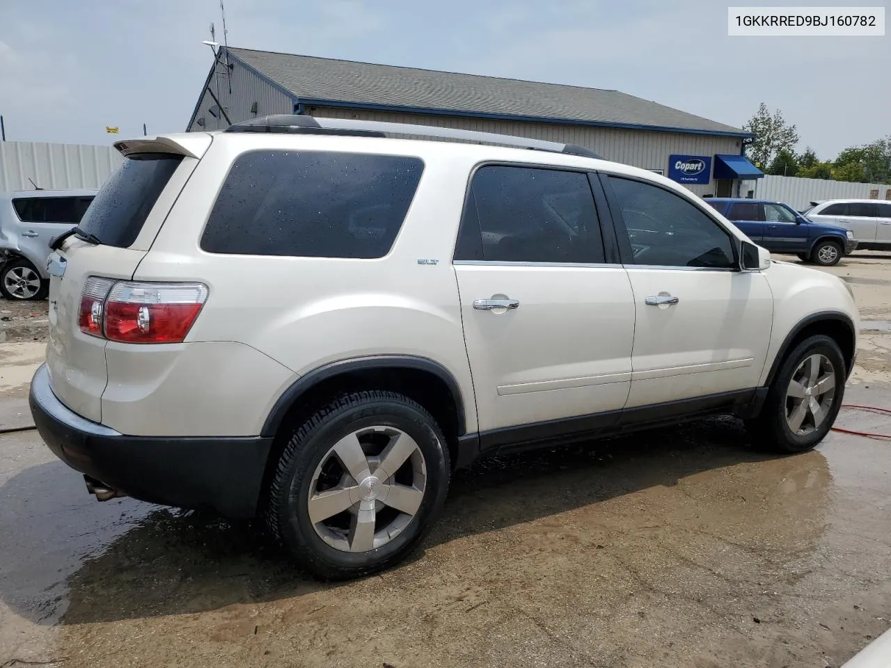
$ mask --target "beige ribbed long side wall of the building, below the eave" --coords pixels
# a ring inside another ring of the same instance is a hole
[[[514,134],[550,142],[574,143],[596,151],[608,160],[615,160],[644,169],[662,169],[668,173],[668,156],[680,153],[714,156],[715,153],[739,154],[740,140],[732,137],[711,137],[704,134],[674,134],[624,130],[612,127],[589,127],[526,121],[489,120],[407,114],[390,111],[369,111],[331,107],[309,107],[307,112],[324,118],[357,118],[391,123],[410,123],[478,130],[498,134]],[[233,119],[234,120],[234,119]],[[715,193],[714,182],[687,186],[699,195]]]

